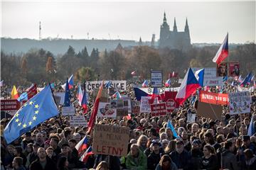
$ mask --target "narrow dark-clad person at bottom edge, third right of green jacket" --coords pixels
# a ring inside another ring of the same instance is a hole
[[[203,152],[201,151],[201,141],[197,139],[193,140],[191,146],[191,165],[193,167],[192,169],[196,170],[200,168],[203,157]]]

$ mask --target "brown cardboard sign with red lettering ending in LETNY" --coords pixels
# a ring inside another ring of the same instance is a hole
[[[127,156],[129,128],[96,124],[93,133],[92,152],[111,156]]]

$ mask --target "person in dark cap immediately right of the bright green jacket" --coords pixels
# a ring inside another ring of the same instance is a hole
[[[159,164],[159,161],[161,159],[161,152],[160,147],[161,144],[157,141],[152,142],[152,152],[149,154],[149,157],[147,158],[147,166],[148,169],[156,169],[157,164]]]

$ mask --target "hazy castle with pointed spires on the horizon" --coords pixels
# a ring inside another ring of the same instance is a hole
[[[166,13],[164,13],[164,22],[160,27],[159,48],[164,47],[178,50],[189,50],[192,47],[187,19],[184,31],[178,32],[176,18],[174,18],[174,29],[171,31],[166,22]]]

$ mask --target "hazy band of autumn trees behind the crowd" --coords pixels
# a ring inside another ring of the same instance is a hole
[[[255,47],[255,43],[250,43],[229,51],[229,62],[240,62],[243,76],[250,71],[256,72]],[[150,79],[150,69],[163,70],[164,79],[173,71],[183,77],[188,67],[215,67],[212,59],[217,50],[217,46],[193,47],[183,52],[149,46],[122,48],[119,45],[110,52],[92,49],[90,55],[86,47],[75,52],[71,46],[64,55],[58,56],[43,49],[31,49],[22,56],[1,52],[1,79],[9,85],[63,82],[71,74],[74,74],[75,81],[132,79],[134,70],[141,79]]]

